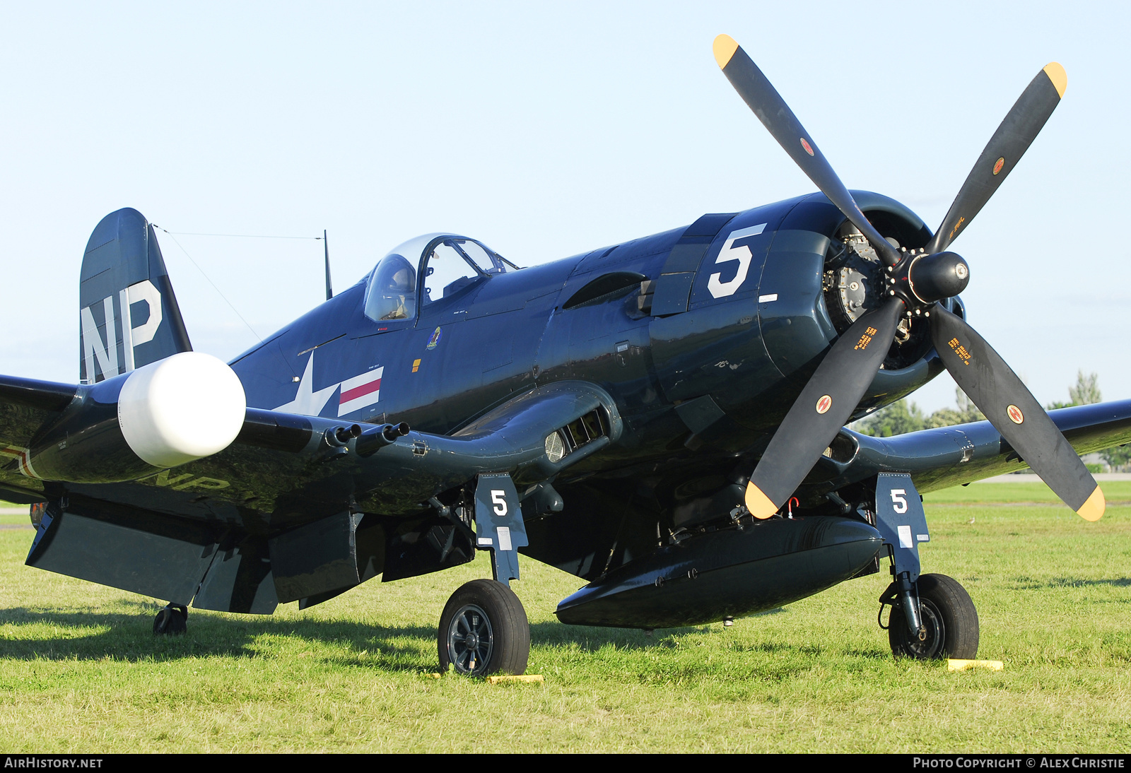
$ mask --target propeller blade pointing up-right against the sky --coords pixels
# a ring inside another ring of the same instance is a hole
[[[1056,110],[1067,87],[1068,73],[1056,62],[1046,64],[1029,82],[978,156],[955,202],[950,205],[950,211],[927,245],[927,252],[946,250],[970,224],[1029,149],[1045,121]]]

